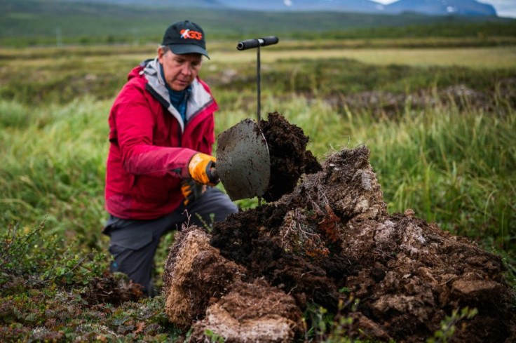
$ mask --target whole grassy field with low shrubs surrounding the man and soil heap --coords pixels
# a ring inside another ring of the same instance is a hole
[[[516,285],[515,48],[317,44],[262,50],[262,116],[277,111],[303,128],[318,159],[365,144],[391,213],[412,208],[501,254]],[[214,43],[201,72],[221,107],[217,134],[256,111],[256,55],[234,46]],[[130,68],[154,49],[0,50],[0,337],[178,335],[161,297],[87,309],[81,302],[108,262],[101,230],[109,108]],[[164,241],[158,271],[172,236]],[[148,330],[121,334],[137,323]]]

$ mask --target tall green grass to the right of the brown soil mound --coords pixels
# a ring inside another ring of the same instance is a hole
[[[400,121],[355,126],[372,149],[388,208],[412,208],[442,229],[512,250],[516,113],[500,110],[409,110]]]

